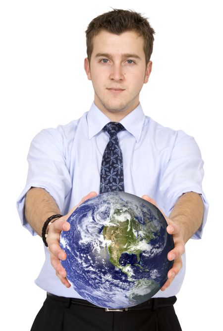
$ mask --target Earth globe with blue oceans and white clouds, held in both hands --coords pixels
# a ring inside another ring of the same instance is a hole
[[[82,298],[121,309],[149,300],[167,280],[173,249],[167,221],[152,203],[124,192],[80,204],[60,234],[67,279]]]

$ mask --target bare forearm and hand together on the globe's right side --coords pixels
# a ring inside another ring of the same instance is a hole
[[[142,198],[157,206],[154,199],[148,196]],[[167,232],[173,236],[174,241],[174,249],[168,253],[167,258],[169,261],[174,260],[174,263],[168,271],[167,282],[161,290],[166,290],[175,275],[180,271],[182,267],[181,256],[185,251],[185,244],[201,226],[203,212],[204,204],[201,196],[194,192],[187,192],[177,200],[169,217],[164,215],[168,224]]]

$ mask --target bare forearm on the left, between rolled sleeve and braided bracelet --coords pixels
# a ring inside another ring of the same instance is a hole
[[[32,228],[42,236],[42,228],[48,217],[60,214],[55,200],[44,189],[31,188],[25,199],[25,217]]]

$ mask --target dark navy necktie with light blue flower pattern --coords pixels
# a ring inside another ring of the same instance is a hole
[[[124,191],[122,152],[117,133],[125,130],[122,124],[110,122],[103,128],[110,135],[102,158],[100,193]]]

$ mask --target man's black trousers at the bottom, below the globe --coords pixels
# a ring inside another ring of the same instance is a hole
[[[106,312],[48,295],[31,331],[181,331],[171,304],[175,301],[176,297],[167,298],[167,307],[157,307],[157,300],[151,299],[151,308]]]

